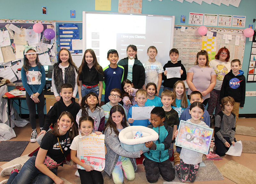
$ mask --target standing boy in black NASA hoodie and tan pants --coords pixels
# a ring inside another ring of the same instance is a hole
[[[236,114],[236,122],[239,114],[239,107],[244,107],[245,101],[245,77],[241,69],[241,62],[239,59],[231,61],[231,71],[227,73],[223,79],[220,90],[220,101],[225,96],[231,96],[235,100],[233,113]]]

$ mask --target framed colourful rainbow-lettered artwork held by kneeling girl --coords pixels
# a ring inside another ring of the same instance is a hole
[[[180,120],[175,145],[188,150],[208,154],[213,129]]]

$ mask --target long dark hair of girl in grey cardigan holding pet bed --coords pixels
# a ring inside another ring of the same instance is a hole
[[[116,128],[116,123],[112,120],[112,114],[114,112],[117,112],[117,111],[120,112],[122,115],[124,115],[124,118],[121,121],[121,125],[123,126],[123,128],[128,127],[125,112],[124,112],[124,108],[121,105],[114,105],[109,111],[108,121],[107,121],[106,126],[103,130],[104,133],[105,133],[105,130],[109,127],[110,130],[111,130],[110,134],[112,134],[112,128],[113,128],[113,130],[116,134],[115,136],[119,135],[119,132]]]

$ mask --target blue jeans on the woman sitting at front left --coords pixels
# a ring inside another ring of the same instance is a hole
[[[10,175],[6,184],[18,184],[18,183],[52,184],[53,180],[49,176],[41,173],[36,168],[35,162],[36,162],[35,156],[29,158],[28,161],[22,166],[19,173],[13,172]],[[56,175],[57,169],[58,167],[51,169],[50,171],[52,171],[52,173]]]

